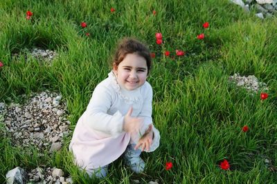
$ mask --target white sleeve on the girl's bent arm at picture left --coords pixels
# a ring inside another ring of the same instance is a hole
[[[97,85],[84,112],[83,120],[94,130],[116,137],[123,132],[124,116],[119,111],[113,115],[107,114],[111,107],[111,93],[106,86]]]

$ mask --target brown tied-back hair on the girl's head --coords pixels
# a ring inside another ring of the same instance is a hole
[[[152,62],[150,50],[146,45],[134,38],[122,39],[117,45],[116,52],[114,52],[113,66],[118,66],[127,54],[138,54],[143,57],[146,60],[149,74]]]

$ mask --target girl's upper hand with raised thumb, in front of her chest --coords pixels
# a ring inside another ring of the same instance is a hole
[[[143,118],[132,117],[133,107],[124,116],[123,130],[125,132],[139,132],[141,125],[143,125]]]

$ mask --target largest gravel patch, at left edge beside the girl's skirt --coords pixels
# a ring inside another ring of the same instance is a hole
[[[64,117],[66,106],[61,99],[60,94],[42,92],[32,94],[24,105],[0,103],[0,120],[12,142],[21,147],[33,145],[38,150],[60,150],[62,138],[70,133],[70,121]]]

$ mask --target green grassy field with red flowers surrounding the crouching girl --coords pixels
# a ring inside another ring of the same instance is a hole
[[[0,183],[16,166],[39,165],[60,167],[75,183],[277,183],[276,25],[276,17],[258,19],[228,0],[0,1],[0,102],[20,101],[20,94],[30,92],[60,92],[73,130],[93,89],[111,70],[114,45],[132,36],[156,54],[148,81],[154,125],[161,132],[160,147],[142,155],[145,174],[133,174],[118,160],[98,181],[73,165],[70,138],[60,152],[40,157],[31,148],[14,147],[0,123]],[[163,34],[161,45],[156,32]],[[203,40],[197,39],[201,33]],[[55,50],[59,57],[52,65],[26,62],[26,48]],[[177,57],[175,50],[186,54]],[[260,93],[252,96],[229,83],[237,72],[267,83],[269,98],[260,101]],[[242,132],[244,125],[248,132]],[[219,166],[224,159],[229,170]],[[172,162],[171,170],[166,162]]]

